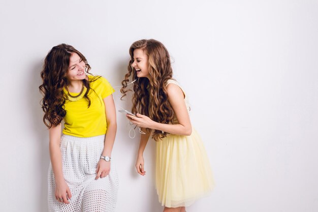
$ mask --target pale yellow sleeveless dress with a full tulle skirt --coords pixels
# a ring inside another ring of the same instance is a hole
[[[167,85],[169,83],[177,84],[182,89],[175,80],[170,79]],[[189,111],[185,93],[184,96]],[[177,122],[174,118],[173,124]],[[169,134],[156,142],[155,171],[158,198],[166,207],[189,206],[213,189],[209,159],[194,128],[190,136]]]

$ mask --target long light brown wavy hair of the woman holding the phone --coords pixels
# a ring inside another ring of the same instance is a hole
[[[148,56],[150,80],[147,77],[138,78],[135,68],[132,67],[135,49],[144,50]],[[132,80],[137,79],[133,87],[132,112],[147,115],[158,123],[171,124],[174,111],[168,101],[166,84],[169,79],[172,79],[173,73],[168,50],[159,41],[143,39],[131,45],[129,54],[131,58],[128,64],[128,73],[125,74],[125,78],[121,82],[123,85],[120,89],[120,92],[123,94],[121,98],[126,96],[126,92],[131,90],[125,86],[128,84],[129,78],[131,77]],[[147,129],[147,131],[150,132],[150,129]],[[158,141],[167,135],[167,132],[154,130],[152,138]]]

